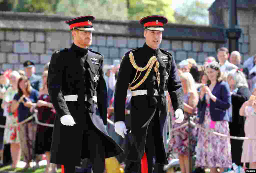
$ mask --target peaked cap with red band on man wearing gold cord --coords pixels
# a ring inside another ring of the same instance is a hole
[[[159,15],[143,17],[140,20],[140,24],[144,26],[144,29],[152,31],[164,31],[164,25],[167,24],[167,22],[166,17]]]

